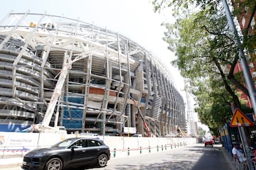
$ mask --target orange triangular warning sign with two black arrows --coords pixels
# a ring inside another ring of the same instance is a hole
[[[253,126],[254,123],[252,120],[247,118],[247,116],[240,111],[239,108],[235,108],[233,118],[230,123],[230,127],[238,127],[238,126]]]

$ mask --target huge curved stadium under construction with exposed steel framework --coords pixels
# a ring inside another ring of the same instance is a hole
[[[0,22],[0,131],[43,123],[101,135],[186,132],[169,69],[136,42],[46,13]]]

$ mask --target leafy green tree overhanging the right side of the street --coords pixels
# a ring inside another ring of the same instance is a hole
[[[248,94],[242,85],[242,73],[234,74],[238,62],[238,50],[228,28],[226,16],[218,1],[154,1],[154,9],[174,6],[175,23],[166,23],[164,40],[169,50],[175,52],[181,75],[190,79],[191,93],[196,96],[196,111],[202,123],[215,130],[232,117],[231,103],[241,105],[240,89]],[[167,4],[167,5],[166,5]],[[182,13],[181,13],[182,12]]]

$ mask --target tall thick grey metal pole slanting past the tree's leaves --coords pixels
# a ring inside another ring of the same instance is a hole
[[[242,72],[245,75],[245,82],[249,91],[250,100],[252,101],[252,108],[253,108],[254,114],[256,115],[256,90],[255,90],[255,85],[253,84],[253,81],[252,81],[252,75],[250,74],[250,69],[245,59],[245,53],[243,51],[240,38],[238,36],[238,30],[235,28],[235,23],[231,16],[230,9],[228,7],[228,3],[226,0],[223,0],[223,6],[225,8],[225,13],[228,18],[228,24],[230,26],[230,30],[233,32],[233,35],[235,38],[235,45],[239,49],[239,57],[240,57],[240,62],[242,64]]]

